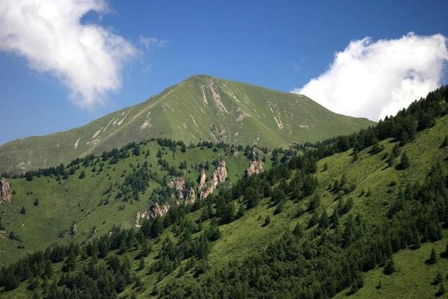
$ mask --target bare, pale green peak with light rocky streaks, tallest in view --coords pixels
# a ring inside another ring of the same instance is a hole
[[[0,146],[0,173],[24,172],[167,137],[276,148],[318,141],[374,123],[332,113],[311,99],[209,76],[193,76],[132,107],[66,132]]]

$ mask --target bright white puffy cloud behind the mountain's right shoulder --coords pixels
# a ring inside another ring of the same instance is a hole
[[[378,120],[440,85],[448,60],[441,34],[351,41],[327,71],[292,92],[337,113]]]

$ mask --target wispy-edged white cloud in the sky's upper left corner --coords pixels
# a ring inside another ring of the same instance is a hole
[[[76,104],[90,108],[120,88],[123,63],[137,53],[111,29],[81,22],[108,9],[104,0],[2,0],[0,50],[56,76]]]

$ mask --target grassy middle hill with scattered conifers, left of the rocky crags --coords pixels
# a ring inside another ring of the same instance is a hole
[[[0,252],[4,257],[0,260],[0,266],[28,253],[45,249],[55,242],[83,242],[91,237],[104,235],[114,225],[122,228],[134,227],[137,212],[148,208],[148,198],[160,184],[151,179],[149,187],[139,194],[139,201],[123,201],[117,199],[116,195],[127,174],[142,167],[144,162],[148,162],[151,172],[160,179],[168,174],[158,165],[158,151],[162,152],[162,159],[176,169],[179,169],[181,162],[186,161],[188,167],[181,176],[192,181],[195,188],[200,172],[192,165],[209,162],[211,166],[206,173],[210,177],[214,171],[212,162],[224,160],[229,181],[235,183],[244,174],[249,162],[242,153],[238,157],[232,157],[228,148],[216,148],[216,151],[212,151],[211,148],[197,147],[189,148],[183,153],[179,146],[173,152],[156,141],[149,141],[139,148],[141,155],[132,155],[132,151],[128,150],[130,157],[116,164],[95,159],[89,167],[80,165],[68,179],[57,180],[56,176],[34,177],[32,181],[25,178],[8,179],[15,194],[11,202],[0,205],[1,220],[6,226],[6,231],[0,233]],[[149,155],[144,154],[148,151]],[[269,166],[269,162],[266,166]],[[84,179],[79,179],[81,172],[85,172]],[[111,193],[104,194],[109,188],[112,189]],[[37,206],[34,205],[36,199]],[[25,214],[20,213],[22,207],[25,207]],[[75,236],[69,235],[73,223],[78,228]],[[20,242],[8,238],[11,231],[20,237]],[[24,244],[25,248],[20,248],[19,244]]]

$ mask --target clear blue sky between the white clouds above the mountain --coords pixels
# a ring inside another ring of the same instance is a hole
[[[104,27],[136,50],[119,72],[120,88],[80,107],[51,71],[3,47],[0,144],[83,125],[195,74],[289,92],[321,76],[351,41],[448,35],[447,1],[365,2],[109,1],[109,13],[87,13],[81,24]],[[141,36],[164,42],[146,50]]]

